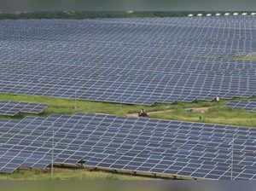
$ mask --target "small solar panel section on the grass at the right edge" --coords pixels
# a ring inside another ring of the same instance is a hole
[[[242,109],[250,112],[256,112],[256,100],[250,101],[230,101],[225,107],[231,107],[235,109]]]

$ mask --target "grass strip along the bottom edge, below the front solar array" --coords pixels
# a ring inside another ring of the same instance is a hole
[[[124,176],[101,171],[57,170],[54,174],[54,181],[48,180],[50,180],[49,171],[38,171],[37,174],[35,171],[20,171],[9,175],[8,178],[7,175],[0,174],[0,181],[3,181],[1,190],[12,191],[155,191],[158,187],[152,186],[152,183],[148,185],[148,182],[142,184],[142,181],[160,179]],[[128,184],[127,181],[129,181]],[[138,184],[137,181],[140,183]]]

